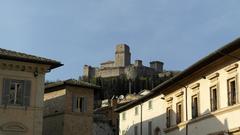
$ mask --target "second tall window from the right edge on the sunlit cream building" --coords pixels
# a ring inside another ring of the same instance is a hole
[[[213,86],[210,88],[210,103],[211,103],[211,111],[214,112],[218,109],[218,93],[217,86]]]

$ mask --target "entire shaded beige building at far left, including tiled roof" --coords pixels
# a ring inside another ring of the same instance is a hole
[[[0,49],[0,135],[42,135],[45,74],[59,66]]]

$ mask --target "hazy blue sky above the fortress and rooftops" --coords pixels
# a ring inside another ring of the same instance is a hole
[[[184,70],[240,37],[239,0],[0,0],[0,47],[61,61],[47,80],[82,75],[128,44],[132,62]]]

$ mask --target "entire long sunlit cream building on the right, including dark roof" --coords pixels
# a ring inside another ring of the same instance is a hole
[[[120,135],[239,135],[240,39],[126,104]]]

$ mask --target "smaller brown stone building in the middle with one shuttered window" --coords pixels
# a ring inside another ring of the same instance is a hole
[[[99,88],[76,80],[47,84],[43,135],[92,135],[94,90]]]

